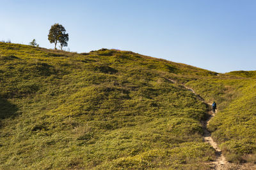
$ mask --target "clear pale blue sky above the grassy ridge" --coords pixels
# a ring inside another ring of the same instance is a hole
[[[60,23],[71,51],[102,47],[215,72],[256,70],[255,0],[0,0],[0,40],[53,48]]]

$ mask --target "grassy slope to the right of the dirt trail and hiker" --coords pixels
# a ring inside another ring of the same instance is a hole
[[[256,79],[254,72],[230,72],[218,79],[188,82],[208,102],[215,100],[218,113],[209,123],[230,162],[256,163]]]

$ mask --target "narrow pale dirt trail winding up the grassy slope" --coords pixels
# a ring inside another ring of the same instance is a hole
[[[166,78],[164,78],[166,79]],[[167,81],[173,82],[177,84],[176,81],[173,81],[172,79],[166,79]],[[189,88],[188,86],[185,86],[184,84],[179,84],[180,86],[183,86],[184,88],[188,89],[189,91],[193,92],[196,95],[196,98],[198,100],[201,100],[205,104],[209,105],[211,107],[211,104],[205,102],[204,98],[200,97],[200,95],[196,94],[195,91],[192,88]],[[209,118],[205,121],[202,121],[202,127],[204,130],[204,141],[205,143],[211,144],[212,148],[214,148],[215,153],[216,153],[216,160],[214,162],[211,162],[209,165],[211,166],[211,169],[256,169],[255,166],[250,167],[250,165],[244,164],[244,165],[237,165],[237,164],[232,164],[230,162],[227,162],[226,158],[222,154],[220,148],[218,147],[218,144],[212,139],[211,137],[211,132],[207,130],[207,125],[209,124],[209,121],[211,118],[215,116],[215,114],[212,114],[211,111],[208,111]]]

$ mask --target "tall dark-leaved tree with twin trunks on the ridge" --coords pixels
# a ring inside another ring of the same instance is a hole
[[[50,43],[54,43],[54,49],[56,49],[57,43],[60,43],[60,47],[68,46],[68,33],[66,33],[65,27],[61,24],[54,24],[49,30],[48,40]]]

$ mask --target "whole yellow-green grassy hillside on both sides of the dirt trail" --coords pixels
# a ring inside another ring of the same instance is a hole
[[[208,169],[209,107],[180,84],[218,103],[209,130],[227,159],[255,163],[252,75],[0,43],[0,168]]]

